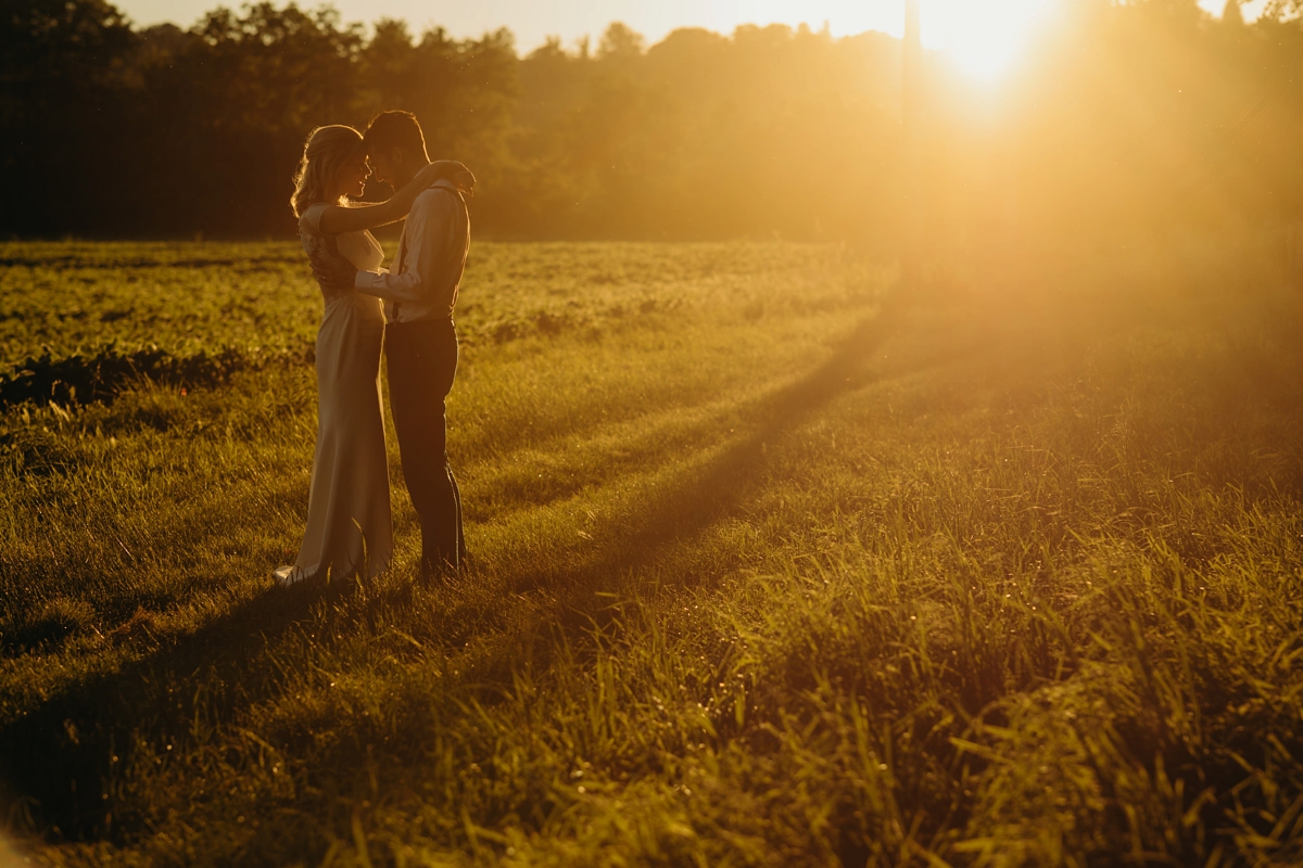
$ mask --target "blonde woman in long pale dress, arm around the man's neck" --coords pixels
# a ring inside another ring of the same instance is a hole
[[[308,137],[289,204],[314,264],[347,259],[377,271],[384,259],[367,229],[407,216],[416,197],[440,180],[469,190],[474,177],[452,160],[421,169],[391,199],[349,204],[371,170],[362,135],[351,126],[319,126]],[[322,271],[322,269],[318,269]],[[394,553],[390,472],[380,413],[380,301],[322,286],[326,312],[317,332],[317,452],[308,495],[308,528],[293,566],[272,570],[283,584],[384,571]]]

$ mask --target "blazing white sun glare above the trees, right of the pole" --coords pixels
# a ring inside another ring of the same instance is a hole
[[[967,74],[995,81],[1023,55],[1054,0],[923,0],[923,39]]]

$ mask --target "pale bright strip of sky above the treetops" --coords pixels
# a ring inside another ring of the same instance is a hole
[[[278,5],[284,0],[279,0]],[[218,5],[238,7],[241,0],[117,0],[132,21],[149,26],[171,21],[189,26]],[[950,49],[960,65],[975,72],[997,72],[1052,12],[1055,0],[923,0],[924,42]],[[315,0],[301,0],[315,7]],[[623,21],[659,42],[676,27],[708,27],[732,33],[740,23],[808,23],[818,30],[827,22],[835,36],[881,30],[899,35],[904,0],[334,0],[345,21],[374,22],[404,18],[418,34],[440,25],[457,38],[480,36],[509,27],[521,53],[537,48],[550,35],[567,46],[584,35],[594,42],[612,21]],[[1220,14],[1225,0],[1200,0]],[[1265,5],[1246,5],[1252,20]]]

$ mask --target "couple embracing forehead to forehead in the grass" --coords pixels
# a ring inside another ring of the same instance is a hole
[[[394,187],[377,204],[352,204],[367,177]],[[461,495],[447,457],[444,400],[457,371],[452,308],[470,247],[465,197],[474,176],[430,163],[421,125],[383,112],[358,133],[313,130],[291,206],[326,301],[317,333],[318,423],[308,528],[280,584],[379,575],[394,553],[390,474],[380,409],[380,347],[403,479],[421,522],[422,576],[446,578],[466,558]],[[407,217],[391,268],[369,232]]]

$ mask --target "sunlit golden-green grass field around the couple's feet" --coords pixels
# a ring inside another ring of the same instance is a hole
[[[477,243],[473,573],[416,582],[391,442],[395,566],[281,591],[297,250],[0,245],[0,821],[69,865],[1299,864],[1280,282]]]

